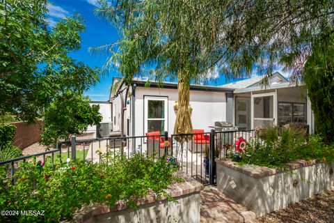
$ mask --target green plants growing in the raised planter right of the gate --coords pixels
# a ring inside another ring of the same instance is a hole
[[[237,157],[231,153],[230,159],[239,164],[249,163],[280,169],[284,169],[287,162],[294,160],[334,160],[334,145],[324,144],[318,135],[310,135],[307,140],[305,132],[293,125],[291,128],[277,130],[277,138],[273,137],[273,132],[272,128],[265,129],[263,136],[267,137],[251,139],[244,153]]]

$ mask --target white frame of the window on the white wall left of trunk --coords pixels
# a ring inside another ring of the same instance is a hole
[[[148,101],[161,100],[164,101],[164,117],[165,118],[148,118]],[[144,96],[144,134],[148,132],[149,120],[164,120],[164,131],[168,130],[168,97]],[[161,132],[162,134],[162,132]]]

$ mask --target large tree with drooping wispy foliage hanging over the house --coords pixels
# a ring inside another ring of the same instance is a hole
[[[121,38],[95,52],[112,52],[106,67],[119,64],[128,82],[147,65],[158,82],[177,77],[186,98],[189,83],[205,79],[214,66],[228,77],[255,69],[270,77],[283,63],[297,80],[315,37],[333,26],[333,6],[333,0],[102,1],[96,14],[115,24]]]

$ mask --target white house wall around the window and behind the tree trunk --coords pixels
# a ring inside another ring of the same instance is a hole
[[[136,88],[135,98],[135,135],[145,135],[144,132],[144,95],[168,97],[168,134],[173,134],[176,114],[173,105],[177,101],[177,89]],[[190,105],[193,108],[191,121],[193,129],[204,129],[209,132],[209,125],[214,121],[225,121],[226,98],[225,93],[209,91],[190,91]]]

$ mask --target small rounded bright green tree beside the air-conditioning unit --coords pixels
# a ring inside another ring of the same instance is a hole
[[[102,121],[99,105],[89,105],[90,100],[80,93],[65,91],[58,95],[44,114],[42,144],[54,144],[59,139],[70,139],[72,134],[79,134],[88,125]]]

